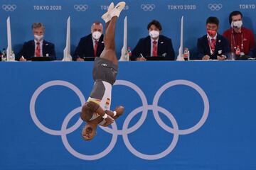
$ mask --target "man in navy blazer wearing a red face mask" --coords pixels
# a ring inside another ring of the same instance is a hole
[[[230,53],[228,40],[218,34],[218,18],[210,16],[206,21],[207,34],[198,38],[197,50],[199,60],[225,60]]]

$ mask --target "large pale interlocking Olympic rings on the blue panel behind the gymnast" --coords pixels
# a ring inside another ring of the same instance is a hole
[[[201,98],[203,99],[203,105],[204,105],[203,115],[202,115],[201,119],[198,121],[198,123],[196,123],[196,125],[193,125],[193,127],[191,127],[191,128],[182,129],[182,130],[178,128],[178,123],[176,122],[176,119],[174,118],[174,116],[169,111],[167,111],[165,108],[158,106],[158,102],[159,102],[159,98],[160,98],[161,94],[163,94],[164,91],[166,91],[166,89],[169,89],[172,86],[178,86],[178,85],[189,86],[192,89],[196,90],[198,92],[198,94],[200,94]],[[75,94],[77,94],[78,97],[80,98],[81,106],[73,109],[73,111],[68,113],[68,115],[63,120],[60,130],[51,130],[50,128],[47,128],[40,122],[40,120],[38,120],[38,117],[36,115],[36,110],[35,110],[36,100],[37,100],[38,96],[41,94],[41,92],[44,91],[45,89],[49,88],[50,86],[68,87],[69,89],[72,89],[75,92]],[[36,89],[36,91],[33,93],[33,96],[31,98],[31,102],[30,102],[30,113],[31,113],[33,122],[36,124],[36,126],[38,128],[43,130],[43,132],[46,132],[50,135],[61,136],[63,145],[65,146],[66,149],[68,149],[68,152],[70,152],[70,154],[73,154],[73,156],[78,157],[79,159],[95,160],[95,159],[100,159],[102,157],[105,157],[114,148],[114,145],[117,142],[118,135],[122,135],[124,144],[126,145],[127,149],[129,149],[129,151],[132,152],[132,154],[134,154],[136,157],[139,157],[141,159],[155,160],[155,159],[161,159],[163,157],[166,157],[167,154],[171,153],[171,151],[174,149],[174,147],[176,146],[176,144],[178,142],[179,135],[188,135],[188,134],[195,132],[196,130],[198,130],[199,128],[201,128],[203,126],[203,124],[206,122],[206,120],[208,118],[209,107],[210,107],[208,97],[206,96],[206,93],[203,91],[203,89],[201,89],[200,86],[198,86],[197,84],[195,84],[191,81],[187,81],[187,80],[169,81],[168,83],[164,84],[164,86],[161,86],[161,88],[156,92],[154,99],[153,99],[153,103],[151,105],[148,104],[148,102],[146,100],[146,96],[144,95],[142,89],[139,89],[139,87],[136,84],[133,84],[130,81],[117,80],[115,82],[114,86],[127,86],[127,87],[133,89],[134,91],[136,91],[142,100],[142,106],[140,106],[139,108],[135,108],[134,111],[127,114],[127,118],[124,120],[122,130],[117,129],[117,124],[115,122],[112,123],[112,128],[100,127],[105,132],[112,134],[112,140],[110,141],[110,145],[108,145],[108,147],[105,150],[103,150],[102,152],[100,152],[99,154],[95,154],[95,155],[81,154],[80,152],[75,151],[75,149],[73,149],[73,147],[71,147],[68,142],[67,135],[69,133],[77,130],[80,127],[80,125],[82,125],[82,120],[79,118],[77,120],[77,122],[70,128],[67,128],[68,123],[73,118],[74,115],[80,113],[82,104],[85,103],[85,101],[86,101],[85,97],[82,95],[82,92],[78,89],[78,87],[76,87],[75,85],[71,84],[68,81],[60,81],[60,80],[48,81],[47,83],[42,84],[41,86],[38,87],[38,89]],[[143,153],[137,151],[137,149],[134,148],[134,146],[131,144],[131,142],[129,141],[129,138],[128,138],[128,135],[130,133],[136,131],[144,123],[144,121],[146,120],[146,115],[149,110],[153,111],[154,118],[156,119],[156,122],[160,125],[160,127],[174,135],[173,140],[171,141],[171,144],[169,145],[169,147],[159,154],[143,154]],[[141,113],[141,112],[142,112],[142,116],[141,116],[141,118],[139,118],[138,122],[135,125],[133,125],[131,128],[128,128],[129,123],[132,120],[132,118],[134,118],[135,115],[137,115],[138,113]],[[166,115],[166,117],[169,118],[169,120],[171,120],[173,128],[169,127],[168,125],[166,125],[164,123],[164,121],[161,120],[161,118],[159,116],[159,112],[164,113],[164,115]]]

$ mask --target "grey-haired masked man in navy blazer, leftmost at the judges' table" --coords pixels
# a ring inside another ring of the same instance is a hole
[[[45,30],[43,23],[33,23],[34,40],[24,42],[21,51],[16,55],[16,60],[26,61],[31,60],[31,57],[50,57],[50,60],[56,60],[54,44],[43,40]]]

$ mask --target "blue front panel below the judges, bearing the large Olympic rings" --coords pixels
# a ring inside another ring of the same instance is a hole
[[[122,62],[85,142],[92,62],[0,62],[0,169],[256,169],[256,62]]]

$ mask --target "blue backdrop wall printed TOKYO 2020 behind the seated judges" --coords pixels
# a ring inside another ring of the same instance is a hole
[[[71,16],[71,50],[75,50],[80,38],[90,33],[93,21],[102,21],[100,16],[107,10],[109,0],[1,0],[0,1],[0,49],[6,47],[6,18],[11,17],[11,33],[14,52],[21,49],[23,42],[33,38],[31,24],[43,22],[46,25],[46,40],[55,43],[58,60],[63,57],[65,47],[66,21]],[[118,1],[114,0],[116,4]],[[127,0],[117,26],[117,53],[123,43],[123,20],[128,17],[128,45],[133,49],[139,38],[148,35],[147,24],[152,19],[163,25],[162,33],[173,40],[178,55],[180,44],[180,22],[184,16],[184,46],[196,55],[197,38],[206,34],[206,18],[220,18],[220,31],[228,29],[228,15],[239,10],[244,14],[244,26],[255,32],[255,0]]]

